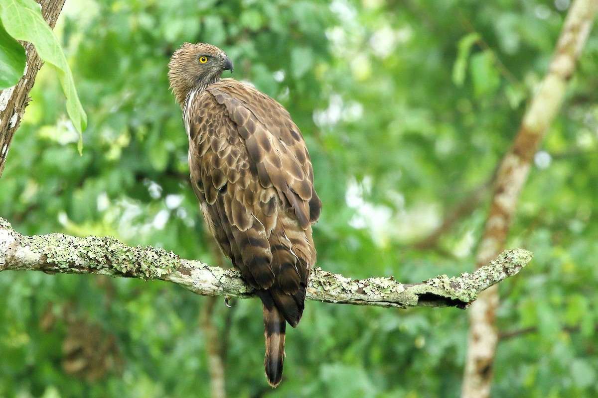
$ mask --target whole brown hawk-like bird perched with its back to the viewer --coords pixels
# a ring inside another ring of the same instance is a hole
[[[312,224],[322,203],[301,132],[272,98],[221,79],[233,63],[209,44],[185,43],[169,63],[183,109],[191,184],[210,232],[264,310],[266,376],[282,378],[286,322],[303,313],[316,262]]]

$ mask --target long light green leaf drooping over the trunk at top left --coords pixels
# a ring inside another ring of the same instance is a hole
[[[50,26],[41,16],[39,4],[33,0],[7,0],[0,7],[0,21],[9,35],[17,40],[32,42],[39,57],[56,67],[58,79],[66,95],[66,111],[81,135],[87,127],[87,115],[77,96],[65,54],[62,53]]]

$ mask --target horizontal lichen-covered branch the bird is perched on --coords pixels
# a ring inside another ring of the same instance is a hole
[[[532,253],[524,249],[505,251],[474,273],[441,275],[422,283],[399,283],[393,277],[354,280],[316,267],[310,276],[307,300],[381,307],[465,308],[479,292],[517,274],[531,259]],[[201,295],[254,295],[254,289],[234,269],[182,260],[163,249],[126,246],[114,237],[59,233],[23,236],[0,218],[0,271],[4,270],[160,279]]]

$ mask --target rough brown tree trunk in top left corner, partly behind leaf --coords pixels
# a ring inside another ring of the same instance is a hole
[[[62,11],[65,0],[38,0],[41,14],[52,29]],[[44,64],[35,51],[33,44],[25,43],[27,60],[25,74],[17,85],[0,91],[0,177],[8,156],[8,149],[13,141],[14,132],[25,115],[25,107],[29,104],[29,92],[33,88],[38,70]]]

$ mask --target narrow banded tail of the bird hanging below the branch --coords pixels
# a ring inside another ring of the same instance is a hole
[[[264,368],[268,384],[276,387],[282,380],[282,362],[285,357],[285,318],[275,306],[264,307],[264,337],[266,338],[266,358]]]

